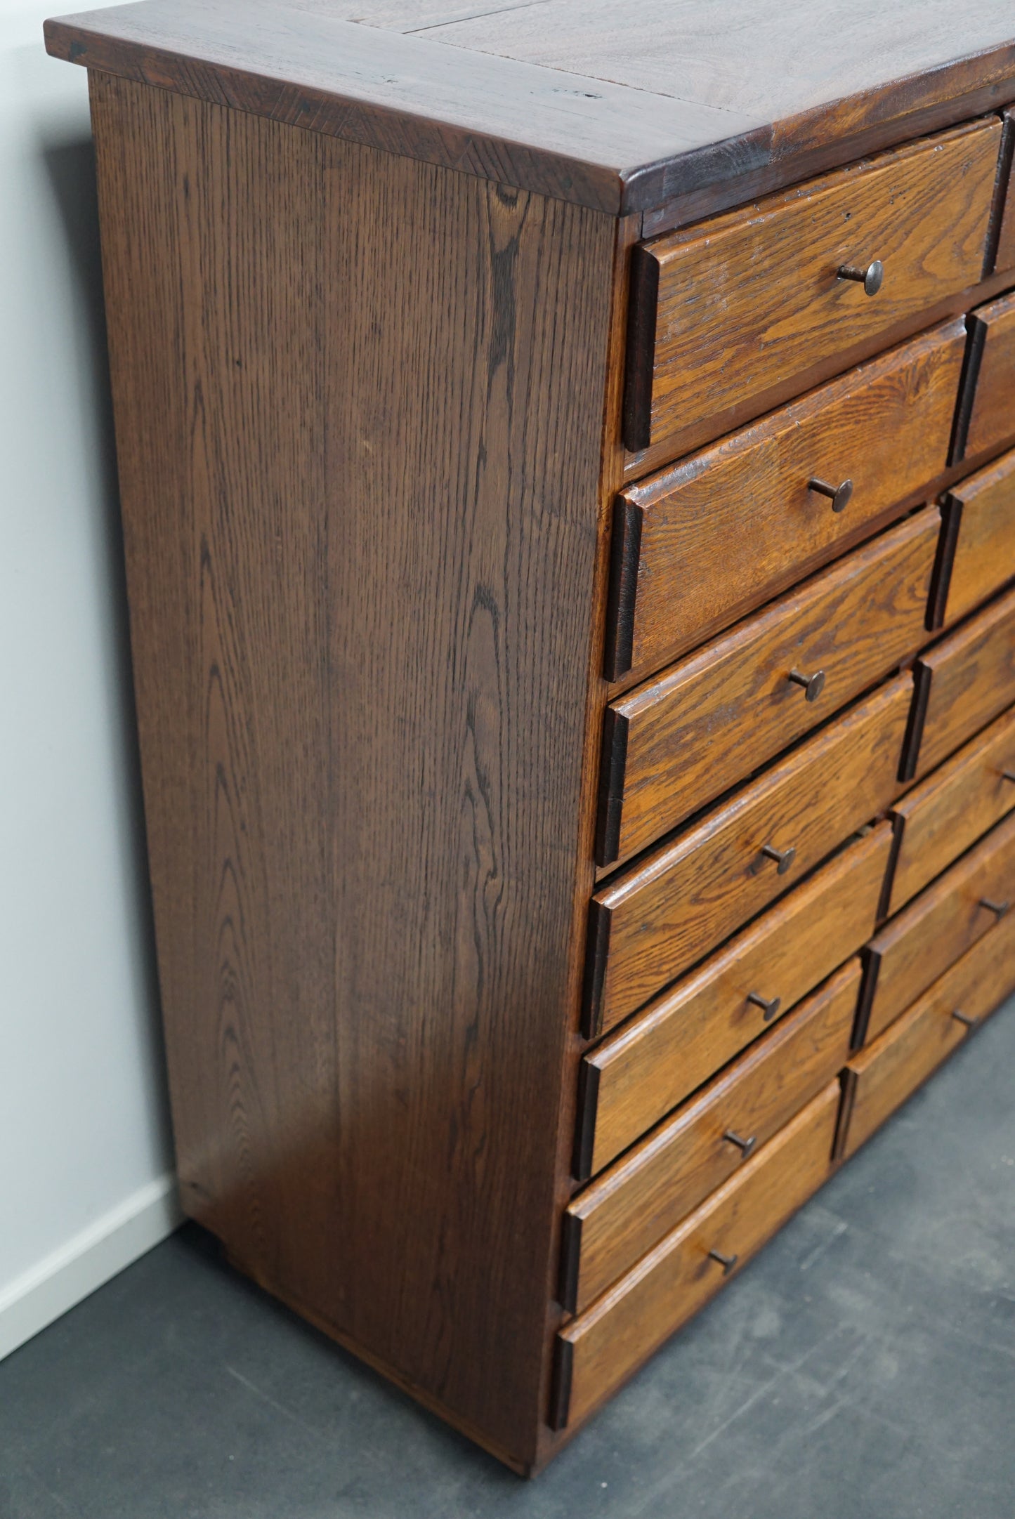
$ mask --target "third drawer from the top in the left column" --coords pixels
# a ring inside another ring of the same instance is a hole
[[[611,703],[597,863],[644,849],[912,655],[939,532],[936,506],[916,512]]]

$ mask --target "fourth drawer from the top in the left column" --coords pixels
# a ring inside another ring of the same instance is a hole
[[[596,893],[587,1025],[641,1007],[889,807],[910,694],[896,676]]]

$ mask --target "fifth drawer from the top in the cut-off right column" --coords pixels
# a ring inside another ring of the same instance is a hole
[[[892,808],[896,913],[1015,807],[1015,711],[971,740]]]

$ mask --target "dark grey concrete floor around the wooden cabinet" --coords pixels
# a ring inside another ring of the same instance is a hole
[[[1012,1519],[1015,1001],[533,1483],[182,1230],[0,1366],[68,1514]]]

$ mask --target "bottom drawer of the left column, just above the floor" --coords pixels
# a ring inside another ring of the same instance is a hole
[[[553,1428],[614,1393],[827,1180],[837,1110],[834,1082],[561,1331]]]

